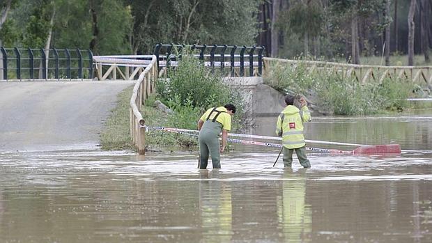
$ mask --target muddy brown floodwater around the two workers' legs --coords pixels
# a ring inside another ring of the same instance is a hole
[[[260,119],[254,134],[272,135]],[[432,111],[306,129],[403,151],[284,169],[275,148],[235,146],[220,170],[197,169],[196,151],[0,152],[0,242],[432,242]]]

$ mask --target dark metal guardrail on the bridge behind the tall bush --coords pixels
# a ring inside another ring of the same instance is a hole
[[[157,68],[175,66],[183,50],[199,58],[213,72],[218,68],[231,77],[263,75],[263,46],[157,44],[153,53],[157,57]]]

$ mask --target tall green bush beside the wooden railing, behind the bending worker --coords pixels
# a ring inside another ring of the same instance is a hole
[[[169,70],[168,79],[156,82],[157,98],[174,111],[171,127],[196,130],[196,123],[210,107],[231,103],[237,108],[233,130],[241,127],[243,105],[240,91],[230,87],[219,73],[211,73],[199,59],[183,56],[178,66]]]

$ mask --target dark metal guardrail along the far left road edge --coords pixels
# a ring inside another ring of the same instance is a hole
[[[0,47],[0,58],[3,80],[93,79],[91,50]]]

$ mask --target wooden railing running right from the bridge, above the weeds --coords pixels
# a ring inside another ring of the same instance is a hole
[[[264,73],[275,65],[288,65],[298,68],[304,65],[309,73],[336,72],[346,78],[357,79],[362,84],[370,81],[383,81],[386,77],[404,78],[413,82],[432,83],[432,66],[382,66],[382,65],[355,65],[346,63],[332,63],[325,61],[301,61],[279,58],[264,58]]]

